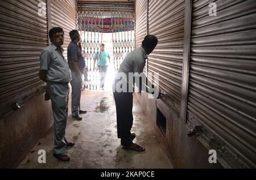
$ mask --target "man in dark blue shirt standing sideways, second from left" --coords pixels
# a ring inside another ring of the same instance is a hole
[[[71,86],[72,86],[72,117],[81,120],[80,114],[86,113],[86,111],[80,109],[81,87],[82,87],[82,75],[85,70],[85,60],[82,57],[79,43],[81,41],[79,32],[72,30],[69,32],[71,43],[68,45],[68,66],[71,69]]]

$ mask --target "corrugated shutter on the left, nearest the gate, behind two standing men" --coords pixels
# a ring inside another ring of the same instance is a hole
[[[64,57],[67,58],[67,48],[71,42],[69,32],[76,29],[76,0],[51,1],[51,27],[61,27],[64,30]]]

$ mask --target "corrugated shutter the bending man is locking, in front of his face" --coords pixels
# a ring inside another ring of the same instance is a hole
[[[149,34],[158,37],[158,45],[148,58],[148,72],[159,72],[159,87],[179,108],[184,47],[183,0],[149,0]]]

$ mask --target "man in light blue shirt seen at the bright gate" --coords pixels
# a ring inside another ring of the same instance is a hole
[[[108,62],[110,61],[110,54],[105,51],[105,44],[101,44],[101,52],[97,52],[94,58],[94,69],[96,69],[96,61],[98,65],[98,70],[100,71],[100,88],[104,90],[106,72],[108,71]]]

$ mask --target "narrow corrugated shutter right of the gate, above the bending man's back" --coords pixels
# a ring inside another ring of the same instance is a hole
[[[141,47],[142,41],[144,37],[147,35],[147,1],[146,0],[138,0],[135,4],[136,8],[136,28],[135,28],[135,36],[136,36],[136,48]]]

